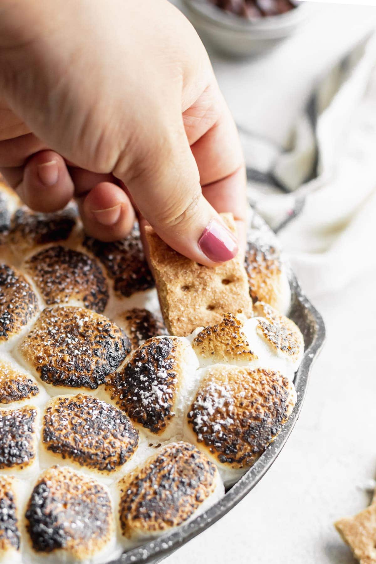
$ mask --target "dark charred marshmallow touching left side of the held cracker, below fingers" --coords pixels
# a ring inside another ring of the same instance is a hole
[[[135,292],[154,287],[154,280],[144,255],[138,224],[121,241],[104,243],[86,237],[83,246],[103,263],[107,274],[113,280],[114,291],[129,298]]]

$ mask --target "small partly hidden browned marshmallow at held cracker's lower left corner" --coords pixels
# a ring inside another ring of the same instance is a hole
[[[144,345],[145,341],[151,337],[167,333],[162,319],[144,308],[134,307],[131,310],[122,311],[113,318],[113,321],[130,338],[132,350]]]

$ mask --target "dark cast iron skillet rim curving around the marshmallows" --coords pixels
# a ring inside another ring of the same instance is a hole
[[[205,531],[206,528],[223,517],[251,491],[276,460],[298,420],[300,409],[302,409],[304,397],[306,396],[309,372],[311,371],[313,360],[319,354],[325,340],[324,321],[319,312],[304,296],[297,279],[292,274],[290,276],[290,285],[293,298],[289,317],[295,321],[300,331],[302,331],[306,350],[294,380],[298,397],[289,421],[287,421],[276,440],[269,445],[252,468],[207,512],[175,531],[171,531],[156,540],[149,541],[141,547],[129,550],[109,564],[138,564],[141,562],[143,564],[157,564],[157,562],[161,562],[175,552],[175,550],[182,547],[183,544],[193,539],[200,532]]]

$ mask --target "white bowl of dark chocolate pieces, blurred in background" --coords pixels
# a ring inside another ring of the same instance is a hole
[[[290,36],[311,6],[299,3],[285,14],[247,20],[229,14],[206,0],[183,0],[187,16],[200,36],[226,55],[259,55]]]

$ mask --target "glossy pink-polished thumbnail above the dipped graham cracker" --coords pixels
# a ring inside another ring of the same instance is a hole
[[[225,262],[234,258],[238,252],[236,237],[216,219],[205,228],[198,246],[213,262]]]

